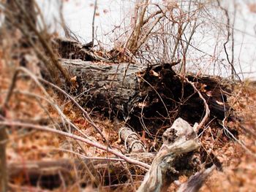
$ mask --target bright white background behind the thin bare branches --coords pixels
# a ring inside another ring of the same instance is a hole
[[[59,14],[57,11],[58,1],[51,0],[50,4],[49,1],[45,0],[37,1],[40,7],[42,7],[47,23],[49,25],[51,24],[54,30],[58,31],[61,36],[64,36],[61,28],[56,25],[59,22]],[[113,45],[113,28],[120,26],[121,23],[122,26],[129,26],[129,16],[132,12],[132,7],[134,7],[134,1],[98,0],[97,13],[99,13],[99,16],[95,19],[95,27],[97,39],[102,42],[103,45]],[[228,6],[232,1],[224,2],[226,2]],[[237,2],[238,11],[235,26],[236,72],[243,72],[244,76],[240,74],[240,77],[253,77],[256,80],[256,13],[250,12],[247,6],[250,2],[253,3],[254,0],[237,0]],[[93,4],[94,0],[69,0],[64,3],[63,13],[67,26],[80,37],[81,42],[91,41],[91,23],[94,12]],[[232,15],[233,12],[230,10],[230,17],[232,17]],[[225,18],[222,22],[225,23]],[[121,30],[119,31],[120,33],[122,32]],[[202,37],[195,38],[211,39],[204,37],[203,34],[201,34],[201,36]],[[212,54],[215,42],[211,40],[205,42],[206,43],[199,45],[200,47],[198,48]],[[225,55],[222,56],[226,59]],[[203,67],[205,68],[204,72],[211,73],[211,69],[207,64],[200,65],[200,69],[203,69]],[[219,70],[221,71],[222,69]],[[222,72],[217,74],[222,74]],[[224,76],[227,76],[227,74],[224,74]]]

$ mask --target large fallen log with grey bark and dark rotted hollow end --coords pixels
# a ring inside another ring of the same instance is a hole
[[[149,135],[157,134],[159,128],[170,126],[178,117],[191,124],[203,118],[202,99],[192,85],[173,71],[172,64],[143,67],[67,59],[61,62],[75,80],[73,95],[81,105],[110,118],[128,117],[127,123],[136,130],[143,128],[150,130]],[[213,77],[188,78],[208,102],[211,119],[225,118],[230,110],[230,91]]]

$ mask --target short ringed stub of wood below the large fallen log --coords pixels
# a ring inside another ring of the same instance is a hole
[[[140,137],[132,129],[121,127],[118,131],[119,138],[130,153],[146,152],[146,147],[140,141]]]

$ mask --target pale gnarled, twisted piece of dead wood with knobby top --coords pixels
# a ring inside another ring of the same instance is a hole
[[[194,129],[185,120],[178,118],[163,134],[163,145],[154,158],[138,192],[166,191],[171,174],[177,174],[174,160],[179,155],[196,150],[199,144]]]

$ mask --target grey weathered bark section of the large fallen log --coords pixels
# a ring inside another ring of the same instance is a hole
[[[121,111],[127,114],[127,109],[132,108],[132,99],[138,96],[138,72],[143,71],[142,67],[66,59],[61,62],[72,77],[76,77],[80,104],[109,113]]]

